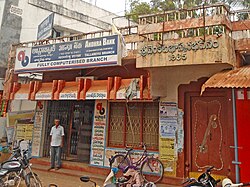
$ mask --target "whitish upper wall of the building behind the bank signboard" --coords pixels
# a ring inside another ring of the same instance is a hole
[[[20,14],[11,11],[13,6]],[[117,17],[82,0],[0,1],[0,69],[7,66],[10,46],[37,40],[38,25],[52,12],[58,36],[110,30],[112,19]],[[128,21],[115,19],[115,24],[124,27]]]

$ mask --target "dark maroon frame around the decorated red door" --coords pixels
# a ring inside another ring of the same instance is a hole
[[[200,96],[201,87],[208,78],[200,78],[197,81],[192,81],[190,84],[182,84],[178,87],[178,107],[184,111],[184,151],[180,157],[180,162],[183,163],[183,176],[188,177],[191,161],[192,161],[192,145],[191,140],[191,97]],[[216,93],[216,94],[215,94]],[[223,96],[229,101],[227,102],[227,119],[228,125],[233,127],[233,110],[232,110],[232,90],[231,89],[215,89],[207,88],[202,96]],[[202,97],[201,96],[201,97]],[[233,132],[233,131],[232,131]],[[234,151],[232,149],[232,151]],[[234,157],[232,157],[233,161]],[[181,167],[180,167],[181,168]],[[231,168],[232,175],[235,176],[235,168]]]

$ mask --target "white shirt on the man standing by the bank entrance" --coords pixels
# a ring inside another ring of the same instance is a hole
[[[64,128],[59,125],[57,128],[54,125],[50,131],[51,136],[51,146],[60,146],[62,143],[62,136],[64,136]]]

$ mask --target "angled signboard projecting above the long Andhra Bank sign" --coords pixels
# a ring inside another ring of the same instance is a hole
[[[38,25],[37,40],[47,39],[52,36],[53,22],[54,22],[54,13],[50,14]]]

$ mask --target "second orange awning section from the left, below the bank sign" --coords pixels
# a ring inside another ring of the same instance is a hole
[[[57,80],[53,82],[35,82],[35,89],[32,93],[31,99],[34,100],[53,100],[54,93],[57,89]]]

